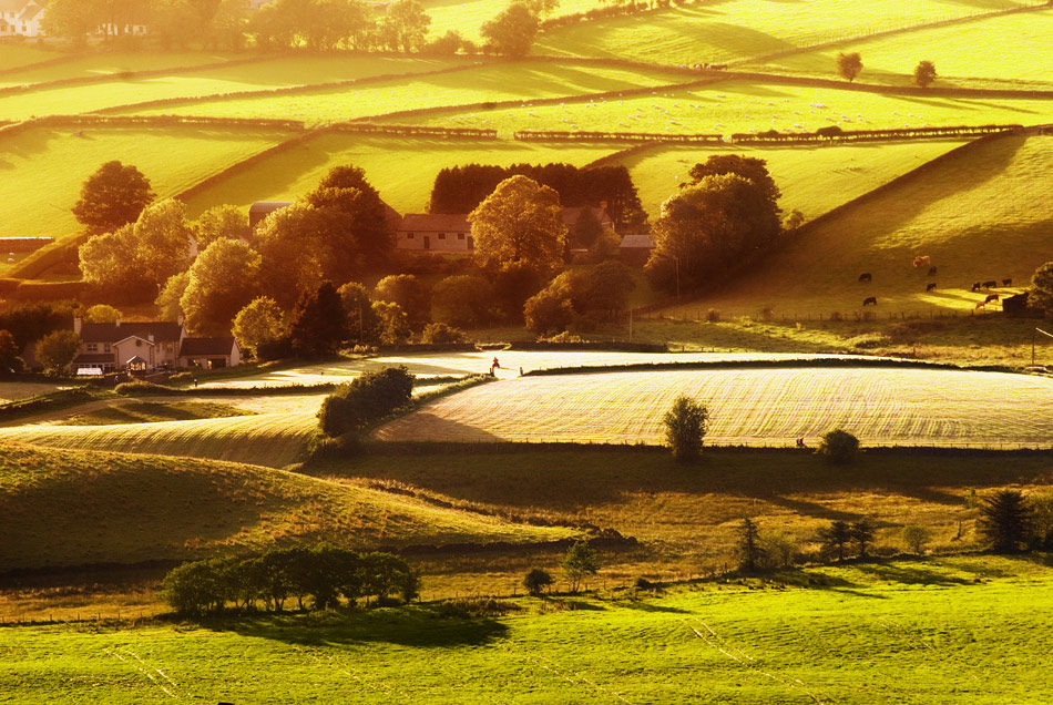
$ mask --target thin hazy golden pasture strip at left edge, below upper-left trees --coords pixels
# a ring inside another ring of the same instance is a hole
[[[50,55],[59,58],[63,54],[55,52]],[[95,51],[82,54],[70,53],[65,57],[65,61],[53,65],[28,65],[22,71],[0,74],[0,88],[89,76],[105,81],[109,78],[119,78],[122,73],[133,71],[193,69],[194,67],[245,58],[244,54],[205,51]]]

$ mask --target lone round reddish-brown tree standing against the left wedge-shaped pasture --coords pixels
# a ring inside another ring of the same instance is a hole
[[[134,222],[153,200],[154,192],[142,172],[117,161],[106,162],[84,182],[73,215],[89,232],[109,233]]]

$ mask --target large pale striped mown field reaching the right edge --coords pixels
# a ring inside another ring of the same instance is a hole
[[[875,446],[1043,447],[1053,380],[920,369],[698,369],[525,377],[430,402],[377,429],[390,441],[665,441],[663,417],[689,396],[717,445],[815,443],[842,428]]]

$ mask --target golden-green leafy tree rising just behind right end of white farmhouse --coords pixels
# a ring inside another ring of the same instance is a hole
[[[190,268],[180,305],[196,335],[225,336],[237,313],[256,294],[259,255],[243,242],[219,238]]]

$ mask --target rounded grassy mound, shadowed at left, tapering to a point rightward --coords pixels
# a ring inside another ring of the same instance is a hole
[[[0,450],[0,565],[17,569],[190,560],[319,542],[549,541],[573,532],[258,466],[8,445]]]

